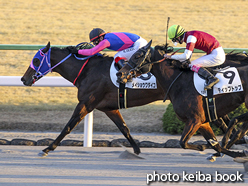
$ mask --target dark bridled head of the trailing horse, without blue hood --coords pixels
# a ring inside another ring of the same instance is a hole
[[[152,40],[146,46],[137,50],[129,59],[128,63],[116,73],[118,82],[126,83],[132,77],[147,73],[141,71],[141,69],[150,60],[150,57],[148,59],[148,56],[150,55],[151,44]]]

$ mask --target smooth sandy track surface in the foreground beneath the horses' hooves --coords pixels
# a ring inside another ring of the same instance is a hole
[[[121,147],[58,147],[45,158],[37,156],[39,150],[40,147],[1,146],[0,185],[139,186],[153,180],[154,171],[162,180],[165,180],[165,175],[169,179],[171,173],[171,180],[179,178],[179,181],[157,181],[151,185],[226,185],[226,182],[216,181],[220,179],[216,174],[233,179],[242,174],[242,182],[229,183],[248,183],[243,165],[233,162],[232,158],[225,156],[214,163],[208,162],[206,156],[212,150],[199,153],[183,149],[143,148],[140,157],[144,159],[123,158],[125,149]],[[190,181],[189,174],[195,181]],[[212,181],[203,182],[203,177]]]

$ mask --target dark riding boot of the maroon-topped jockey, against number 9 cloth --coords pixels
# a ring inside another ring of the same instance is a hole
[[[198,74],[201,75],[206,80],[206,85],[204,89],[211,89],[212,86],[214,86],[216,83],[218,83],[220,80],[215,77],[212,73],[210,73],[206,68],[199,68]]]

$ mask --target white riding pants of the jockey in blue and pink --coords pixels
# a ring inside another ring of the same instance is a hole
[[[143,39],[142,37],[140,37],[134,44],[132,47],[127,48],[125,50],[121,50],[119,52],[117,52],[114,56],[114,58],[116,57],[125,57],[127,60],[129,60],[132,55],[139,50],[140,48],[142,48],[143,46],[147,45],[147,41],[145,39]]]

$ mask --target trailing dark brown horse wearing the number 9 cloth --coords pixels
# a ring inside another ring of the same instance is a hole
[[[192,71],[182,71],[172,67],[173,60],[165,59],[163,51],[159,49],[151,50],[151,41],[147,46],[139,49],[119,72],[118,81],[125,83],[127,79],[136,76],[139,67],[146,64],[153,64],[151,73],[157,78],[164,92],[173,104],[173,108],[178,118],[185,123],[184,130],[180,139],[180,145],[184,149],[193,149],[203,151],[207,148],[205,144],[189,144],[188,141],[199,130],[208,144],[218,153],[224,153],[231,157],[243,157],[247,155],[246,151],[233,152],[228,150],[230,146],[222,148],[209,125],[206,102],[200,95],[192,80]],[[232,55],[232,54],[230,54]],[[236,54],[234,54],[236,55]],[[237,57],[237,55],[235,56]],[[228,58],[227,58],[228,60]],[[238,61],[239,59],[236,59]],[[248,62],[248,57],[242,57],[242,61]],[[235,110],[243,102],[248,106],[248,66],[237,68],[242,86],[242,92],[219,94],[215,96],[216,112],[218,118]],[[179,75],[180,74],[180,75]],[[247,119],[247,118],[246,118]],[[246,120],[247,121],[247,120]],[[242,134],[243,135],[243,134]],[[235,136],[240,139],[243,136]]]

